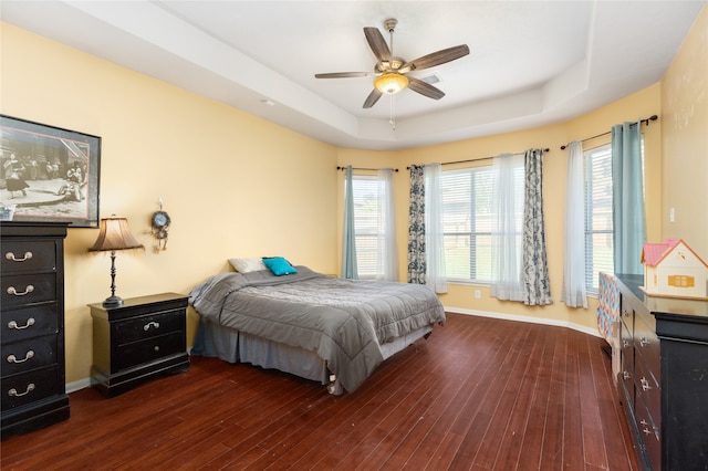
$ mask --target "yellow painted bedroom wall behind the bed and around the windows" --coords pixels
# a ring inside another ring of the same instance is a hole
[[[231,257],[283,254],[294,263],[339,273],[343,172],[335,167],[348,164],[399,169],[395,176],[396,224],[399,278],[405,280],[406,166],[549,147],[544,197],[555,303],[524,307],[489,297],[487,286],[461,285],[450,285],[441,300],[462,312],[498,312],[592,331],[596,300],[590,300],[587,310],[569,310],[558,301],[566,168],[560,146],[604,133],[624,121],[659,115],[659,122],[644,127],[648,239],[673,234],[663,220],[666,208],[674,205],[679,222],[684,213],[697,220],[695,228],[687,229],[690,238],[681,237],[708,259],[706,17],[704,9],[660,84],[568,123],[418,149],[337,149],[7,23],[0,23],[0,112],[102,137],[101,216],[127,217],[134,234],[148,248],[143,254],[118,254],[117,294],[123,297],[162,291],[187,293],[214,273],[229,270],[227,259]],[[693,108],[688,124],[676,118],[668,122],[669,115],[685,117],[690,103],[697,103],[698,109]],[[666,134],[664,139],[662,133]],[[696,168],[699,171],[694,171]],[[663,180],[662,171],[674,171],[676,178]],[[684,198],[681,188],[693,188],[697,192],[690,195],[702,198],[698,212],[691,210],[696,202]],[[155,253],[150,250],[149,218],[158,209],[159,197],[173,226],[168,250]],[[108,259],[86,253],[96,236],[97,230],[70,229],[66,239],[67,383],[90,375],[92,325],[86,304],[108,295]],[[702,242],[691,241],[700,237]],[[473,299],[476,289],[481,291],[481,300]],[[190,339],[192,313],[189,321]]]

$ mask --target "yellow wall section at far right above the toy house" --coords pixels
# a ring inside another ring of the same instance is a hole
[[[664,238],[684,239],[708,262],[708,7],[662,80],[662,106]]]

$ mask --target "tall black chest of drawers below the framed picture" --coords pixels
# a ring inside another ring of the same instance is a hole
[[[66,224],[2,222],[2,437],[69,418],[64,366]]]

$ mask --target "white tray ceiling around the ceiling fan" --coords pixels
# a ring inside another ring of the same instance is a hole
[[[2,21],[339,147],[398,149],[570,119],[658,82],[705,0],[13,1]],[[468,44],[436,75],[363,109],[373,77],[364,27],[398,20],[413,60]],[[627,116],[637,119],[645,116]]]

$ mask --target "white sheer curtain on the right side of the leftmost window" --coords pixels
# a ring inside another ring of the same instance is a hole
[[[391,168],[378,170],[378,217],[383,220],[378,223],[384,230],[383,250],[379,257],[381,270],[377,279],[385,281],[398,281],[398,251],[396,250],[396,217],[394,212],[394,171]]]

